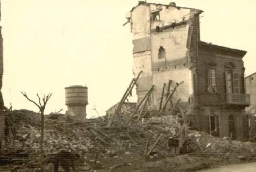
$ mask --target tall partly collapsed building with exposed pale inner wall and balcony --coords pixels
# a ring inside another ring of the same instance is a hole
[[[190,106],[190,125],[232,139],[247,137],[244,89],[246,51],[200,40],[199,16],[193,8],[139,1],[127,13],[133,34],[133,72],[142,71],[137,84],[138,102],[154,85],[152,108],[159,109],[163,84],[172,88],[175,104]],[[167,87],[165,87],[165,93]],[[172,89],[171,89],[172,90]],[[164,98],[165,100],[165,98]],[[172,106],[168,103],[166,111]]]

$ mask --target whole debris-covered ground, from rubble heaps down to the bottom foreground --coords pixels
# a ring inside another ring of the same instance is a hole
[[[193,130],[189,138],[200,151],[172,156],[168,138],[179,130],[179,117],[154,113],[130,122],[123,116],[110,126],[108,117],[80,121],[61,114],[47,115],[45,159],[61,149],[78,153],[78,171],[195,171],[255,160],[255,143]],[[14,110],[6,112],[6,117],[7,137],[2,145],[0,171],[40,171],[40,115]],[[45,168],[51,171],[53,164],[45,164]]]

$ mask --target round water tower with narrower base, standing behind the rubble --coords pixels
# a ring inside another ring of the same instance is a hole
[[[65,87],[65,105],[68,107],[66,115],[80,120],[86,119],[86,106],[88,105],[87,87]]]

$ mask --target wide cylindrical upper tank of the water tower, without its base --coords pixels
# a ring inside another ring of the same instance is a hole
[[[65,105],[86,106],[88,104],[87,87],[71,86],[65,87]]]

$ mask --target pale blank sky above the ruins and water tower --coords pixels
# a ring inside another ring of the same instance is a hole
[[[148,2],[169,4],[170,1]],[[1,0],[4,38],[2,94],[5,106],[38,112],[20,93],[37,100],[53,93],[46,113],[64,109],[64,88],[88,87],[87,117],[100,115],[122,98],[133,78],[132,34],[125,14],[138,1]],[[204,11],[201,40],[248,51],[245,74],[256,72],[256,1],[177,0]],[[135,92],[129,99],[136,102]]]

